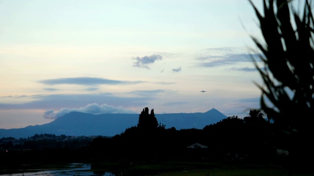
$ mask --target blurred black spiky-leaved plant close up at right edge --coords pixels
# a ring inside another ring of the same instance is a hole
[[[312,5],[305,0],[301,15],[294,9],[291,0],[264,0],[262,16],[249,1],[260,21],[265,42],[262,44],[252,37],[262,52],[259,58],[264,64],[264,68],[260,68],[253,58],[264,83],[264,86],[258,85],[262,90],[261,108],[278,128],[290,134],[291,161],[310,166],[313,164],[313,153],[310,151],[313,149],[311,138],[314,134]],[[306,158],[312,158],[311,162],[301,162]]]

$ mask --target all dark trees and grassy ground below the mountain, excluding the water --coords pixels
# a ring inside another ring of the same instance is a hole
[[[277,129],[259,110],[251,110],[243,119],[228,117],[204,129],[167,129],[158,124],[154,110],[149,113],[145,108],[137,126],[113,137],[36,134],[24,139],[24,144],[3,143],[0,171],[82,162],[91,163],[96,173],[109,170],[130,175],[197,175],[206,170],[215,170],[215,175],[246,175],[252,170],[285,173],[289,156],[277,153],[277,149],[285,149],[287,134]],[[194,145],[197,143],[202,145]],[[311,173],[302,165],[295,168],[294,173]]]

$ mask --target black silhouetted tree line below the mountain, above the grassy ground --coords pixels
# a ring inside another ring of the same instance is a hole
[[[136,126],[113,137],[102,136],[93,140],[88,139],[89,141],[87,139],[57,141],[56,138],[65,138],[65,135],[35,140],[47,136],[36,134],[31,137],[33,140],[27,140],[24,148],[21,148],[32,150],[4,153],[4,156],[13,159],[13,163],[19,160],[19,157],[31,157],[34,161],[44,162],[45,158],[40,156],[47,152],[46,155],[49,157],[46,158],[46,162],[67,157],[65,161],[71,162],[125,160],[127,163],[131,161],[154,163],[165,160],[206,160],[285,164],[277,155],[276,148],[287,146],[285,140],[280,140],[286,137],[286,133],[276,132],[277,124],[263,118],[260,110],[250,110],[248,116],[243,119],[231,116],[215,124],[209,124],[203,129],[166,128],[165,125],[158,124],[157,118],[154,110],[149,113],[149,109],[145,108],[139,114]],[[208,148],[200,150],[187,148],[195,143]],[[6,160],[5,163],[10,162]]]

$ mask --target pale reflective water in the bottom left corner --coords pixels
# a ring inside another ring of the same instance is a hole
[[[105,174],[96,174],[90,171],[91,165],[85,163],[71,163],[67,165],[67,169],[45,169],[38,172],[27,172],[18,174],[4,174],[0,176],[115,176],[110,172]]]

